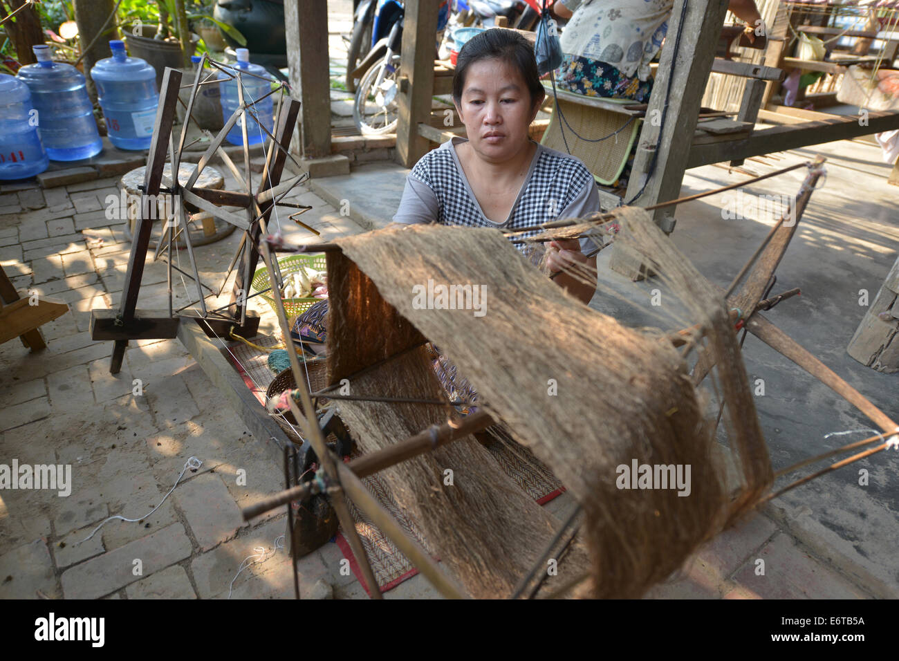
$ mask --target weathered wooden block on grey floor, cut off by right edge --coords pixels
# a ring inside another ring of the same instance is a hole
[[[872,370],[899,371],[899,259],[887,273],[846,351]]]

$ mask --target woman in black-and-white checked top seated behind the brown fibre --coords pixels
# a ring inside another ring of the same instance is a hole
[[[467,41],[458,54],[453,101],[468,139],[452,138],[414,165],[388,227],[440,223],[514,230],[599,211],[599,192],[583,162],[528,137],[544,95],[533,49],[520,34],[496,28]],[[515,237],[536,234],[539,230]],[[547,270],[558,273],[554,281],[590,302],[595,284],[565,269],[576,265],[596,272],[595,256],[584,254],[594,247],[592,239],[518,246],[534,264],[545,256]],[[300,315],[294,339],[324,342],[326,311],[325,299]],[[450,396],[471,401],[474,393],[456,378],[455,368],[433,355]]]

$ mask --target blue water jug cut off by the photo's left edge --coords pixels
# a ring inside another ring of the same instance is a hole
[[[48,165],[28,85],[0,74],[0,180],[31,177]]]

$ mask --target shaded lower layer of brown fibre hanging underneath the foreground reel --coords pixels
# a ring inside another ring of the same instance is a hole
[[[423,337],[381,299],[378,289],[343,255],[329,255],[328,374],[332,383]],[[347,298],[352,291],[354,298]],[[389,352],[389,353],[387,353]],[[424,347],[406,352],[351,382],[353,394],[426,397],[446,401]],[[340,415],[364,453],[442,424],[451,406],[342,401]],[[452,484],[445,483],[452,471]],[[508,597],[536,561],[559,522],[512,482],[472,437],[406,460],[379,473],[396,504],[421,525],[441,564],[467,594]],[[574,549],[557,580],[586,569],[583,549]]]

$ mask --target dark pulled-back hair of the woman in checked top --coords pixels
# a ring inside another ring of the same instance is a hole
[[[456,103],[462,103],[468,67],[478,60],[489,58],[503,60],[521,72],[530,92],[531,105],[546,94],[543,85],[540,85],[537,59],[534,58],[534,48],[530,42],[516,31],[490,28],[467,40],[458,53],[456,73],[452,76],[452,97]]]

